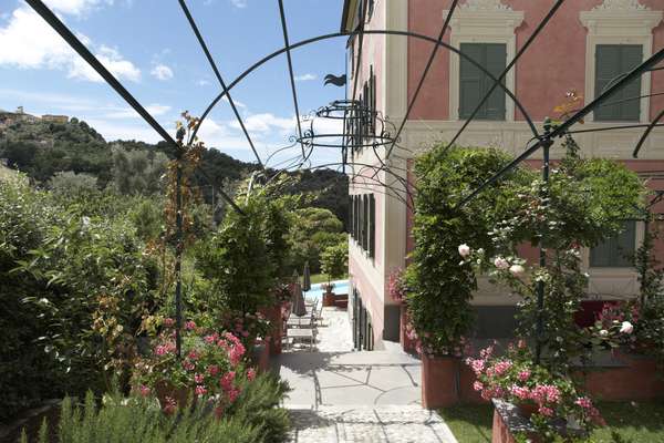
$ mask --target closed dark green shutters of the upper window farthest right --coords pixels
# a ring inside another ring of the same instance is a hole
[[[643,60],[641,44],[598,44],[595,48],[595,97],[615,84],[621,75],[636,68]],[[594,112],[595,121],[639,121],[641,100],[641,79],[621,87],[605,103],[620,102],[610,106],[600,106]],[[627,100],[634,99],[634,100]]]

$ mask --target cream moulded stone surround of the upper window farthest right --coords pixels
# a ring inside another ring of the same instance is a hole
[[[588,29],[585,35],[585,103],[595,99],[595,52],[598,44],[639,44],[643,60],[653,51],[653,28],[662,21],[662,11],[652,11],[639,0],[604,0],[590,11],[581,11],[579,19]],[[651,73],[641,76],[641,95],[651,93]],[[641,100],[639,121],[650,122],[650,100]],[[594,121],[594,113],[588,115]],[[604,121],[602,121],[604,123]]]

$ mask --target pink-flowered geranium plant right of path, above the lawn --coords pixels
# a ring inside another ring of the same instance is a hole
[[[573,422],[585,432],[605,424],[592,401],[577,390],[571,379],[533,363],[522,340],[510,344],[504,354],[489,346],[466,363],[475,372],[474,389],[483,399],[500,399],[530,410],[531,423],[543,435],[554,430],[554,419]]]

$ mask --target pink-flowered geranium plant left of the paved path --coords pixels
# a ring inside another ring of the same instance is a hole
[[[163,399],[166,412],[178,406],[175,391],[210,400],[221,408],[232,404],[242,387],[256,377],[256,371],[245,363],[247,351],[240,339],[230,332],[212,332],[187,321],[178,360],[174,326],[173,319],[164,320],[152,356],[137,363],[133,380],[135,391],[144,396],[159,396],[164,389],[172,391]]]

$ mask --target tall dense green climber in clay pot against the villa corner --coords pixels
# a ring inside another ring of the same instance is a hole
[[[494,249],[489,233],[513,214],[532,173],[516,168],[463,208],[470,190],[510,161],[499,150],[436,146],[417,158],[415,175],[415,248],[407,269],[408,315],[428,354],[459,356],[473,326],[469,300],[475,272],[459,266],[459,245]]]

